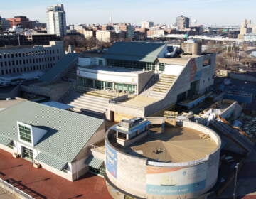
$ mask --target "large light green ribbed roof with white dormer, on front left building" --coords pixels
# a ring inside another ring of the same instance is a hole
[[[104,123],[102,119],[24,101],[0,112],[0,135],[18,140],[17,121],[46,129],[34,148],[69,163]]]

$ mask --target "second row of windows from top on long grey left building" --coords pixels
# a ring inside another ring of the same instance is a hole
[[[59,59],[60,59],[60,57],[58,56],[57,60],[59,60]],[[46,62],[46,61],[55,61],[55,57],[4,61],[4,62],[0,62],[0,67],[22,65],[22,64],[28,64],[28,63],[41,63],[41,62]]]

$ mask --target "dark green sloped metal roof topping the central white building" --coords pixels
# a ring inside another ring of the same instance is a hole
[[[165,46],[166,43],[155,42],[116,42],[102,57],[153,63]]]

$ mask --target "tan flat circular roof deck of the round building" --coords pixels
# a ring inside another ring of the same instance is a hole
[[[212,139],[201,139],[201,131],[188,127],[152,127],[150,133],[131,146],[123,147],[110,139],[110,143],[124,153],[161,162],[186,162],[206,157],[217,149]],[[159,153],[156,153],[159,150]]]

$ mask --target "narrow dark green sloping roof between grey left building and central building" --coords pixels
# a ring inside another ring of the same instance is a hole
[[[72,63],[75,59],[78,58],[79,53],[69,53],[63,56],[58,60],[58,63],[53,68],[50,68],[39,80],[42,82],[50,82],[54,80],[61,72],[66,70],[70,63]]]

